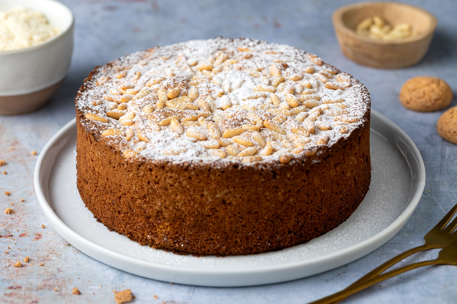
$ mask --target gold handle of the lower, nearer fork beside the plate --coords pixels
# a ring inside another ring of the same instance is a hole
[[[336,294],[329,295],[328,297],[325,297],[323,299],[317,300],[317,301],[309,303],[309,304],[332,304],[335,302],[338,303],[338,302],[342,301],[343,299],[349,297],[351,294],[355,294],[363,289],[366,289],[367,287],[370,287],[385,279],[392,278],[393,276],[396,276],[400,273],[404,273],[404,272],[407,272],[407,271],[415,269],[415,268],[420,268],[420,267],[425,267],[425,266],[430,266],[430,265],[448,264],[448,263],[449,262],[446,262],[446,261],[438,258],[436,260],[423,261],[423,262],[409,264],[404,267],[389,271],[388,273],[378,275],[377,277],[371,278],[363,283],[359,283],[357,285],[350,286],[344,290],[341,290],[340,292],[338,292]]]

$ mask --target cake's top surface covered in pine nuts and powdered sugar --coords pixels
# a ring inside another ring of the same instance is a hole
[[[368,90],[296,47],[214,38],[97,67],[76,98],[81,124],[126,158],[287,163],[366,123]]]

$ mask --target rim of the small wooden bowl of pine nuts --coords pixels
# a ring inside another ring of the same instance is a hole
[[[347,12],[348,10],[353,10],[357,8],[362,8],[362,7],[367,7],[375,4],[395,4],[395,5],[403,5],[408,7],[409,9],[414,9],[414,10],[420,10],[422,11],[425,15],[427,15],[430,18],[430,27],[421,33],[419,33],[416,36],[412,37],[407,37],[407,38],[399,38],[399,39],[394,39],[394,40],[381,40],[381,39],[372,39],[370,37],[362,36],[357,34],[354,30],[349,28],[348,26],[345,25],[343,22],[343,14]],[[410,5],[402,2],[394,2],[394,1],[373,1],[373,2],[358,2],[350,5],[345,5],[341,6],[335,12],[333,13],[332,16],[332,21],[333,21],[333,26],[335,28],[335,31],[338,29],[340,31],[343,31],[346,35],[351,36],[354,39],[357,39],[359,41],[367,42],[367,43],[372,43],[372,44],[378,44],[378,45],[402,45],[402,44],[407,44],[407,43],[412,43],[412,42],[417,42],[424,40],[428,36],[432,35],[433,32],[436,29],[436,25],[438,23],[436,17],[432,15],[429,11],[424,10],[421,7],[415,6],[415,5]]]

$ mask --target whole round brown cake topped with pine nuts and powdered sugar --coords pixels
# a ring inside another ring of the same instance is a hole
[[[308,242],[371,179],[367,88],[287,45],[218,37],[127,55],[85,79],[76,123],[87,208],[175,253]]]

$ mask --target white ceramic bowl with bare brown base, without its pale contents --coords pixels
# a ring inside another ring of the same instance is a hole
[[[0,0],[0,10],[24,7],[41,12],[61,32],[42,44],[0,51],[0,114],[42,107],[68,73],[73,52],[74,17],[54,0]]]

